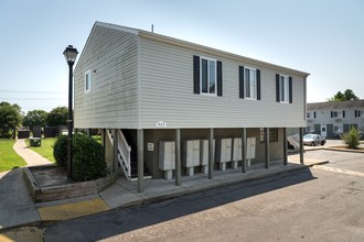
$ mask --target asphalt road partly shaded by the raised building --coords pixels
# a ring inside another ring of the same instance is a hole
[[[364,241],[364,154],[44,228],[45,241]],[[355,173],[351,173],[355,172]]]

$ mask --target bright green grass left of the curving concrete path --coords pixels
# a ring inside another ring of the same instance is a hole
[[[12,148],[14,143],[14,140],[0,139],[0,172],[26,165],[25,161]]]

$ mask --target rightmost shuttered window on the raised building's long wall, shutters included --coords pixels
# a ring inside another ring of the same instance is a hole
[[[276,75],[276,101],[292,103],[292,77]]]

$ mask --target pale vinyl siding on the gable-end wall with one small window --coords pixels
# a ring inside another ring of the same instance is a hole
[[[137,36],[95,26],[75,69],[75,128],[138,125]],[[85,73],[90,70],[90,92]]]

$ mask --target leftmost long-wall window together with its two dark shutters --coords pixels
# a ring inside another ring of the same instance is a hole
[[[222,62],[193,56],[193,92],[223,96]]]

